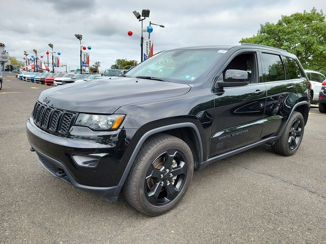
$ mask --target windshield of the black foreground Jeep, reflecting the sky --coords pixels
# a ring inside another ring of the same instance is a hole
[[[157,53],[126,73],[126,77],[154,77],[166,81],[191,84],[222,53],[216,49],[182,49]]]

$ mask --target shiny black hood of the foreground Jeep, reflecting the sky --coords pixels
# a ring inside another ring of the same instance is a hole
[[[119,77],[82,81],[44,90],[38,100],[48,106],[84,113],[114,113],[132,103],[186,94],[191,86]]]

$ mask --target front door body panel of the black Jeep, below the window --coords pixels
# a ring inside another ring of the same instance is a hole
[[[228,87],[215,93],[210,157],[258,141],[265,102],[263,83]]]

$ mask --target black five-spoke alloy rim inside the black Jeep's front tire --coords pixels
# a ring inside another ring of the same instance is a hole
[[[170,149],[158,156],[149,166],[145,186],[146,198],[153,205],[173,201],[184,185],[187,167],[182,153]]]

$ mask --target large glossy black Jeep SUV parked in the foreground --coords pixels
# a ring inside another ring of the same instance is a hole
[[[284,50],[180,48],[114,80],[43,91],[27,135],[52,175],[112,202],[123,189],[135,209],[160,215],[210,163],[263,143],[293,155],[309,94],[300,62]]]

